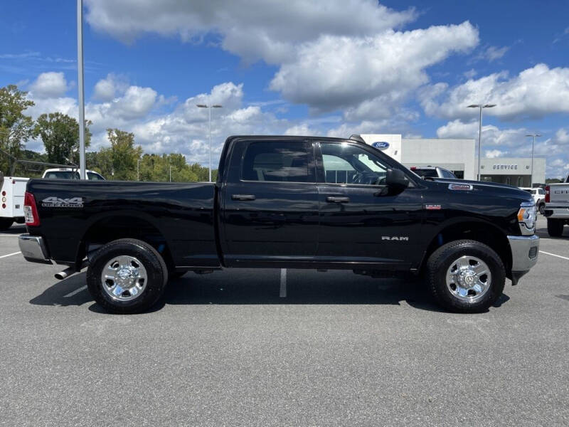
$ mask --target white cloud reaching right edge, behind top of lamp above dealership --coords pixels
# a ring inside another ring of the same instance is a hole
[[[509,78],[508,73],[494,73],[478,80],[468,80],[448,90],[446,83],[425,88],[420,93],[427,115],[447,119],[468,119],[477,111],[469,104],[491,102],[494,108],[484,115],[517,121],[541,118],[556,112],[569,112],[569,68],[548,68],[538,64]]]

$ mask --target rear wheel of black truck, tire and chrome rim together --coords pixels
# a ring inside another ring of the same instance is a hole
[[[97,251],[87,268],[87,288],[105,310],[134,314],[159,300],[168,281],[161,255],[143,241],[123,238]]]

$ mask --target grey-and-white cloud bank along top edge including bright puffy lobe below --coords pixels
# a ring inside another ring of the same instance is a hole
[[[87,0],[87,21],[127,43],[144,33],[220,47],[245,63],[277,65],[270,88],[312,112],[346,110],[346,120],[387,118],[428,83],[426,68],[476,46],[469,22],[395,31],[413,9],[376,0]],[[245,7],[246,6],[246,7]],[[101,92],[112,91],[101,83]],[[104,90],[107,89],[107,90]],[[417,113],[414,114],[415,116]]]

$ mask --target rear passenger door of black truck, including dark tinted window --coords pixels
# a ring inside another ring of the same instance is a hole
[[[222,193],[226,265],[313,260],[319,221],[315,169],[312,142],[235,142]]]

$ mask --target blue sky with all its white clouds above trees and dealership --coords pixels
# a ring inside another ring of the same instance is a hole
[[[0,16],[0,85],[30,113],[77,116],[74,1],[18,1]],[[147,152],[208,157],[228,135],[477,137],[483,155],[569,172],[567,1],[85,0],[86,115],[134,132]],[[41,149],[41,143],[28,142]]]

